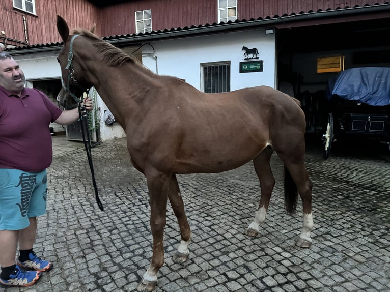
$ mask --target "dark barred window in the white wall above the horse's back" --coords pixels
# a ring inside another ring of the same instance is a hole
[[[203,92],[230,91],[230,62],[201,64],[201,75]]]

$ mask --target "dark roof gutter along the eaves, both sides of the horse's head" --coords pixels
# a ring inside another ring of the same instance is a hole
[[[354,8],[344,8],[338,10],[325,10],[317,12],[308,12],[302,14],[295,14],[290,16],[282,16],[278,18],[267,18],[259,20],[249,20],[241,21],[237,23],[227,23],[227,24],[216,24],[210,25],[207,27],[195,27],[195,28],[183,28],[182,30],[175,30],[170,32],[161,32],[161,33],[152,33],[148,35],[141,36],[130,36],[116,39],[109,39],[109,37],[103,37],[102,39],[113,45],[125,45],[135,42],[146,42],[151,40],[161,40],[169,38],[179,38],[179,37],[189,37],[196,36],[200,34],[211,34],[216,32],[227,32],[234,30],[242,30],[243,28],[257,28],[257,27],[266,27],[266,26],[286,26],[287,23],[294,23],[298,21],[312,21],[326,18],[342,18],[346,16],[356,16],[360,14],[368,13],[383,13],[390,12],[390,3],[388,4],[378,4],[365,7],[354,7]],[[20,50],[11,50],[7,51],[9,54],[25,54],[25,53],[36,53],[47,50],[60,50],[62,43],[59,43],[59,46],[56,47],[41,47],[41,48],[29,48],[29,49],[20,49]]]

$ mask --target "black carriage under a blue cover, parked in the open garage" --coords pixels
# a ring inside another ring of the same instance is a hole
[[[323,157],[332,144],[371,139],[390,144],[390,68],[351,68],[329,79]]]

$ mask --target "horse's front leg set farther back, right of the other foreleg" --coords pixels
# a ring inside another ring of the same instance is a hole
[[[187,216],[185,215],[184,203],[180,194],[179,184],[177,182],[175,174],[172,174],[168,198],[171,202],[173,212],[176,215],[179,223],[181,242],[173,256],[173,261],[177,263],[185,262],[188,259],[189,249],[188,245],[191,241],[191,229],[188,224]]]

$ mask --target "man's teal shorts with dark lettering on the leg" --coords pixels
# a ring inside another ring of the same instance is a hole
[[[46,213],[47,173],[0,168],[0,230],[21,230]]]

